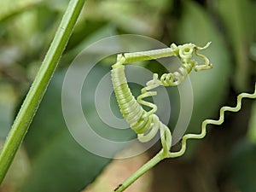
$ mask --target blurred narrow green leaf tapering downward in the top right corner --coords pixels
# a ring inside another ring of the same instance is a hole
[[[253,37],[256,34],[255,9],[255,1],[250,0],[218,0],[216,3],[216,10],[227,34],[226,38],[236,58],[236,71],[233,79],[236,90],[239,91],[247,88],[250,76],[255,73],[251,70],[253,64],[248,57]]]

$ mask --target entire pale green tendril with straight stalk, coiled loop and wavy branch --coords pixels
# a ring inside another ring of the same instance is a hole
[[[197,50],[206,49],[209,46],[208,43],[205,47],[198,47],[195,44],[183,44],[177,46],[172,44],[170,48],[155,49],[149,51],[142,51],[137,53],[125,53],[117,56],[117,61],[113,64],[111,71],[113,90],[119,103],[120,112],[123,117],[131,125],[131,129],[137,132],[137,138],[140,142],[146,143],[150,141],[158,131],[160,131],[160,141],[162,149],[153,159],[149,160],[145,165],[137,170],[131,177],[128,177],[124,183],[114,189],[115,192],[124,191],[131,183],[134,183],[138,177],[141,177],[145,172],[155,166],[160,160],[166,158],[174,158],[184,154],[186,151],[186,145],[188,139],[201,139],[207,134],[207,125],[221,125],[224,122],[224,112],[237,112],[241,109],[242,98],[256,98],[256,84],[253,94],[241,93],[237,96],[236,107],[223,107],[220,108],[219,119],[206,119],[202,122],[200,134],[186,134],[182,138],[182,147],[177,152],[171,151],[172,145],[172,133],[169,128],[164,125],[159,117],[155,114],[157,106],[154,103],[143,101],[145,97],[156,96],[156,91],[153,90],[156,87],[162,86],[177,86],[181,84],[184,79],[194,68],[195,71],[207,70],[212,68],[212,64],[205,55],[197,53]],[[193,59],[193,53],[201,57],[204,60],[204,64],[198,65],[197,61]],[[154,73],[153,79],[148,81],[146,87],[141,90],[141,95],[137,97],[137,100],[132,96],[131,90],[127,84],[125,78],[125,63],[133,61],[146,61],[154,60],[161,57],[177,56],[182,61],[182,67],[179,67],[175,73],[164,73],[160,79],[158,74]],[[142,105],[152,108],[149,111],[145,111]]]

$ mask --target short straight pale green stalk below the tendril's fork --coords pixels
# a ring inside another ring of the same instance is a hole
[[[148,172],[149,169],[158,164],[161,160],[166,158],[166,153],[164,150],[160,150],[158,154],[156,154],[151,160],[148,160],[146,164],[144,164],[141,168],[134,172],[131,177],[128,177],[124,183],[120,184],[117,189],[114,189],[113,192],[122,192],[127,189],[132,183],[134,183],[138,177],[141,177],[145,172]]]

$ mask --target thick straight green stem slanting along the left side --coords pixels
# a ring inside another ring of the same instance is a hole
[[[47,89],[49,80],[55,71],[55,67],[61,58],[68,39],[73,32],[73,27],[79,18],[84,2],[84,0],[71,0],[68,4],[67,10],[61,20],[61,24],[55,33],[55,38],[45,55],[42,66],[40,67],[38,74],[26,95],[26,99],[20,108],[20,112],[17,114],[15,122],[9,131],[9,135],[0,154],[0,184],[3,182],[3,178],[8,172],[9,166],[20,147],[20,143],[26,135],[26,131],[32,122],[33,116],[44,96],[44,92]]]

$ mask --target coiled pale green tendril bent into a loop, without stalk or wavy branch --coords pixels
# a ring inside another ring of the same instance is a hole
[[[150,90],[153,90],[160,85],[176,86],[180,84],[186,79],[193,67],[195,68],[195,71],[212,68],[212,64],[207,57],[196,52],[199,49],[206,49],[209,44],[210,43],[203,48],[198,47],[195,44],[183,44],[179,46],[172,44],[170,48],[166,49],[118,55],[117,62],[113,65],[111,71],[113,90],[119,103],[120,112],[123,114],[123,117],[128,124],[131,125],[131,129],[137,132],[139,141],[143,143],[150,141],[160,130],[162,147],[166,152],[170,150],[172,144],[171,131],[155,114],[157,106],[154,103],[146,102],[143,99],[148,96],[157,95],[156,91]],[[195,55],[200,56],[205,61],[203,65],[198,65],[192,58],[194,52]],[[135,97],[132,96],[131,90],[127,84],[124,64],[131,61],[153,60],[166,56],[178,56],[182,61],[182,66],[179,67],[175,73],[163,74],[160,79],[158,79],[158,74],[154,73],[153,79],[148,81],[146,84],[147,86],[141,90],[142,94],[138,96],[136,100]],[[150,111],[145,111],[141,105],[152,109]]]

